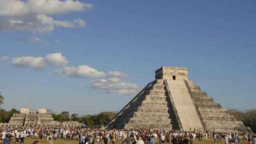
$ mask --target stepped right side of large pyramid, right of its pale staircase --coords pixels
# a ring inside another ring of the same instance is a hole
[[[236,120],[220,104],[215,103],[206,92],[201,91],[200,86],[196,86],[193,81],[187,81],[190,95],[198,108],[207,130],[216,132],[252,132],[246,128],[243,122]]]

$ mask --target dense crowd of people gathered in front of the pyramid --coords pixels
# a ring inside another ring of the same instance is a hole
[[[212,138],[214,142],[222,141],[223,144],[256,144],[256,135],[247,133],[238,135],[232,133],[216,132],[193,132],[170,131],[167,129],[130,129],[130,130],[103,130],[90,128],[67,128],[67,127],[0,127],[0,139],[4,144],[23,144],[26,138],[36,138],[33,144],[39,144],[43,138],[49,144],[53,144],[58,138],[78,140],[79,144],[115,144],[116,141],[122,144],[193,144],[195,141],[204,141]]]

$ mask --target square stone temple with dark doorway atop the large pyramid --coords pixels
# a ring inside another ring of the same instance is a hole
[[[156,70],[156,79],[188,80],[188,68],[162,66]]]

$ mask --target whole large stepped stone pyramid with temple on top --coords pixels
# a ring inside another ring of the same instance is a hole
[[[241,121],[188,80],[188,69],[162,67],[147,84],[107,124],[108,128],[167,128],[250,132]]]

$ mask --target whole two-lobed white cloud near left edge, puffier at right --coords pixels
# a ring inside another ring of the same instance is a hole
[[[47,54],[46,58],[34,56],[21,56],[12,58],[12,64],[17,67],[30,67],[34,70],[41,70],[45,66],[65,66],[68,60],[61,53]]]

